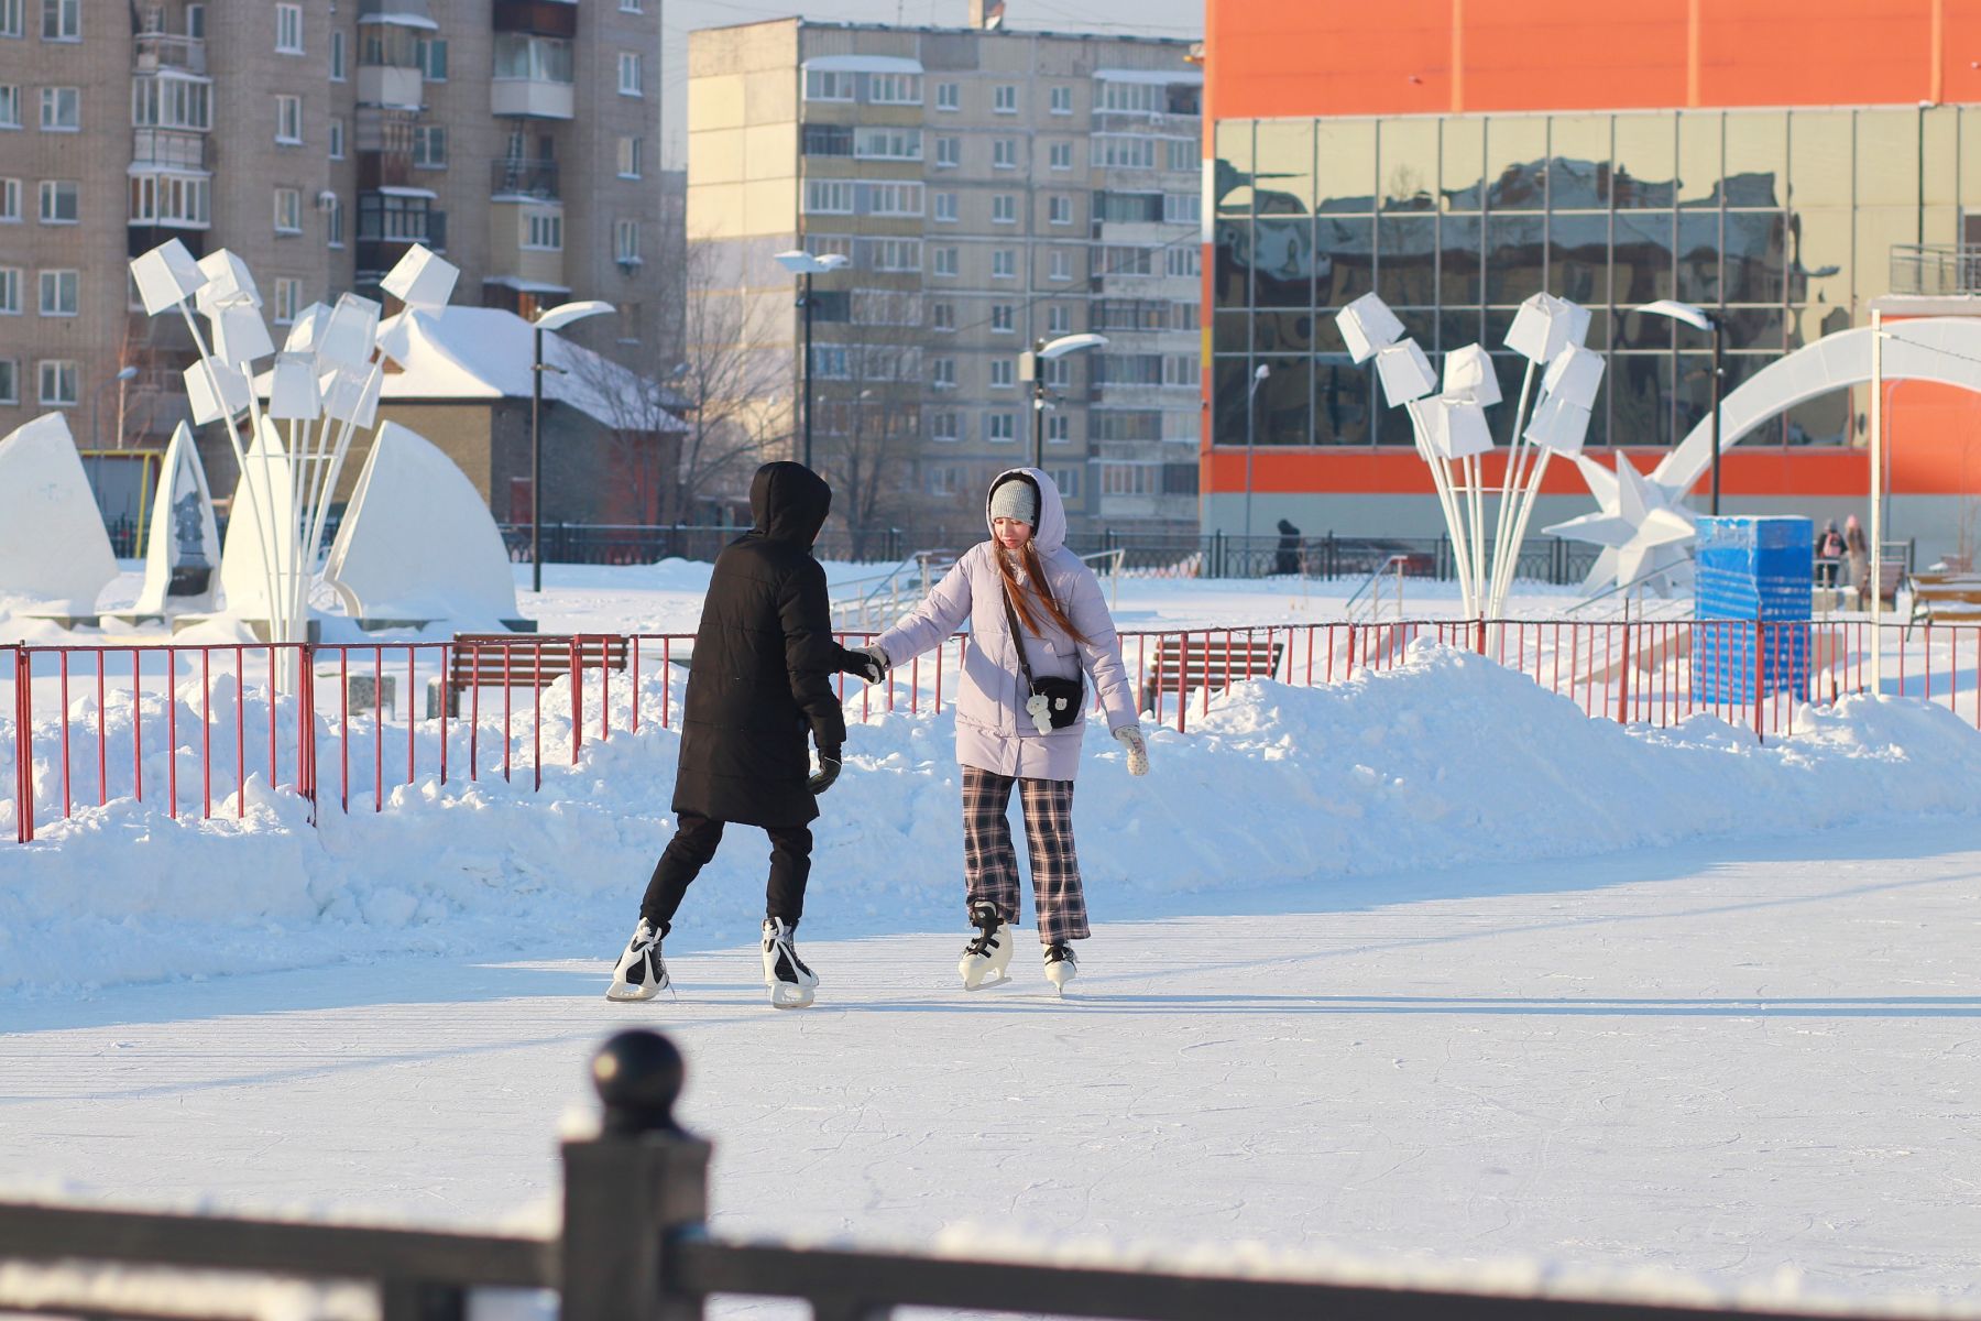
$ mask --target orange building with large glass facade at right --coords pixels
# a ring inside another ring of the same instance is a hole
[[[1644,303],[1721,323],[1725,392],[1874,301],[1981,309],[1981,0],[1206,0],[1204,55],[1204,531],[1442,531],[1407,418],[1333,325],[1369,291],[1432,364],[1494,353],[1502,444],[1513,309],[1589,307],[1589,452],[1640,471],[1712,398],[1708,337]],[[1741,440],[1721,507],[1864,515],[1868,404],[1840,390]],[[1892,535],[1971,553],[1981,396],[1892,384],[1886,418]],[[1535,525],[1593,507],[1555,465]]]

